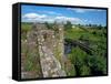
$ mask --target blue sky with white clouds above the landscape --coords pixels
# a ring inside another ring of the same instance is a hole
[[[67,22],[107,25],[107,10],[44,6],[21,6],[22,22]]]

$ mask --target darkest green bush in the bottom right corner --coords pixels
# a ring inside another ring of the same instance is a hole
[[[93,75],[107,74],[107,60],[103,56],[89,56],[88,64]]]

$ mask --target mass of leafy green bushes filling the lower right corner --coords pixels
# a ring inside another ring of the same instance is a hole
[[[68,57],[77,76],[107,74],[107,59],[103,55],[89,55],[80,48],[73,48]]]

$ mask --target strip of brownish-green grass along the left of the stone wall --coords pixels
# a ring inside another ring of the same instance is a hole
[[[23,71],[34,73],[34,76],[42,76],[38,45],[34,45],[33,50],[28,45],[27,34],[31,31],[31,23],[21,23],[21,53],[24,54]],[[23,55],[21,55],[23,56]],[[22,60],[22,59],[21,59]]]

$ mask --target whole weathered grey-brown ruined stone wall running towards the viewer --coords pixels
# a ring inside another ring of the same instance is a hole
[[[53,29],[48,29],[46,24],[37,23],[27,38],[29,52],[36,55],[34,51],[38,51],[43,77],[65,76],[63,25],[56,24]]]

